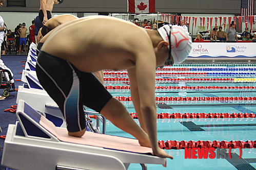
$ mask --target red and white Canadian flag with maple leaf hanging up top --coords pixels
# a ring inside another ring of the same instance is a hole
[[[154,13],[155,0],[128,0],[128,12],[135,14]]]

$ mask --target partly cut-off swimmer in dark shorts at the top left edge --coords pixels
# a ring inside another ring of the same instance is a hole
[[[54,4],[62,4],[64,0],[40,0],[39,18],[43,25],[51,18],[51,12]]]

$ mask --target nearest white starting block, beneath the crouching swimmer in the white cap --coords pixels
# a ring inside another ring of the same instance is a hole
[[[2,165],[19,170],[127,169],[130,163],[165,164],[136,139],[86,132],[81,138],[55,127],[24,101],[16,125],[9,125]]]

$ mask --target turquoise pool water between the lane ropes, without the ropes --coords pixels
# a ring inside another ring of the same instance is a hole
[[[201,67],[204,67],[202,65]],[[222,66],[225,68],[225,66]],[[241,66],[240,66],[241,67]],[[240,68],[239,67],[239,68]],[[196,66],[196,68],[200,68]],[[228,67],[226,67],[228,68]],[[234,66],[235,68],[235,66]],[[254,67],[253,67],[254,68]],[[191,67],[190,67],[190,70]],[[224,69],[223,69],[224,70]],[[228,70],[228,69],[227,69]],[[250,69],[248,69],[250,70]],[[251,72],[248,71],[247,72]],[[251,69],[253,70],[253,69]],[[168,71],[166,71],[168,72]],[[204,69],[204,72],[207,72]],[[223,71],[222,71],[223,72]],[[224,71],[225,72],[225,71]],[[241,72],[241,71],[240,71]],[[183,74],[184,75],[184,74]],[[230,79],[244,79],[239,77],[239,74],[234,74],[230,77],[230,72],[226,74],[226,77]],[[241,75],[241,74],[240,74]],[[246,74],[244,74],[246,75]],[[248,74],[250,75],[250,74]],[[109,75],[108,75],[109,76]],[[177,76],[177,75],[175,75]],[[210,77],[212,76],[212,77]],[[116,77],[116,76],[114,76]],[[121,76],[122,77],[122,76]],[[127,78],[127,76],[124,75]],[[161,77],[161,76],[160,76]],[[157,78],[160,78],[159,76]],[[119,77],[120,78],[120,77]],[[172,76],[166,76],[162,78],[174,78]],[[175,77],[181,78],[181,77]],[[194,77],[182,77],[182,78],[194,78]],[[213,74],[203,75],[199,77],[214,78]],[[219,78],[219,77],[218,77]],[[221,77],[220,77],[221,78]],[[254,74],[250,77],[255,78]],[[247,79],[248,80],[248,79]],[[127,86],[129,83],[120,81],[105,81],[105,86]],[[189,82],[189,81],[177,81],[177,82],[161,82],[156,81],[155,86],[250,86],[254,87],[255,82]],[[108,89],[113,96],[130,96],[129,89]],[[214,89],[214,88],[196,88],[196,89],[156,89],[156,97],[253,97],[256,96],[256,90],[254,88],[245,89]],[[122,101],[127,110],[130,113],[135,112],[131,101]],[[168,107],[161,107],[164,104]],[[253,113],[256,114],[256,101],[255,100],[241,100],[241,101],[156,101],[157,113]],[[137,124],[139,121],[134,119]],[[186,141],[231,141],[231,140],[256,140],[256,118],[163,118],[157,119],[157,135],[159,140],[186,140]],[[130,134],[123,132],[122,130],[113,126],[107,121],[107,134],[124,136],[133,138]],[[256,149],[242,149],[242,158],[239,159],[240,150],[231,149],[232,159],[227,157],[226,159],[185,159],[185,150],[166,150],[166,152],[174,157],[173,160],[167,160],[167,167],[162,165],[147,164],[148,169],[256,169]],[[227,149],[227,152],[229,150]],[[140,164],[131,164],[128,169],[141,169]]]

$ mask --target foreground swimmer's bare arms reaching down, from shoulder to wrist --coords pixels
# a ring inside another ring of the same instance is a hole
[[[139,54],[136,57],[135,68],[128,70],[131,94],[135,107],[141,112],[141,118],[149,135],[152,150],[158,147],[156,132],[156,105],[155,105],[155,56]],[[136,110],[136,112],[137,112]]]

